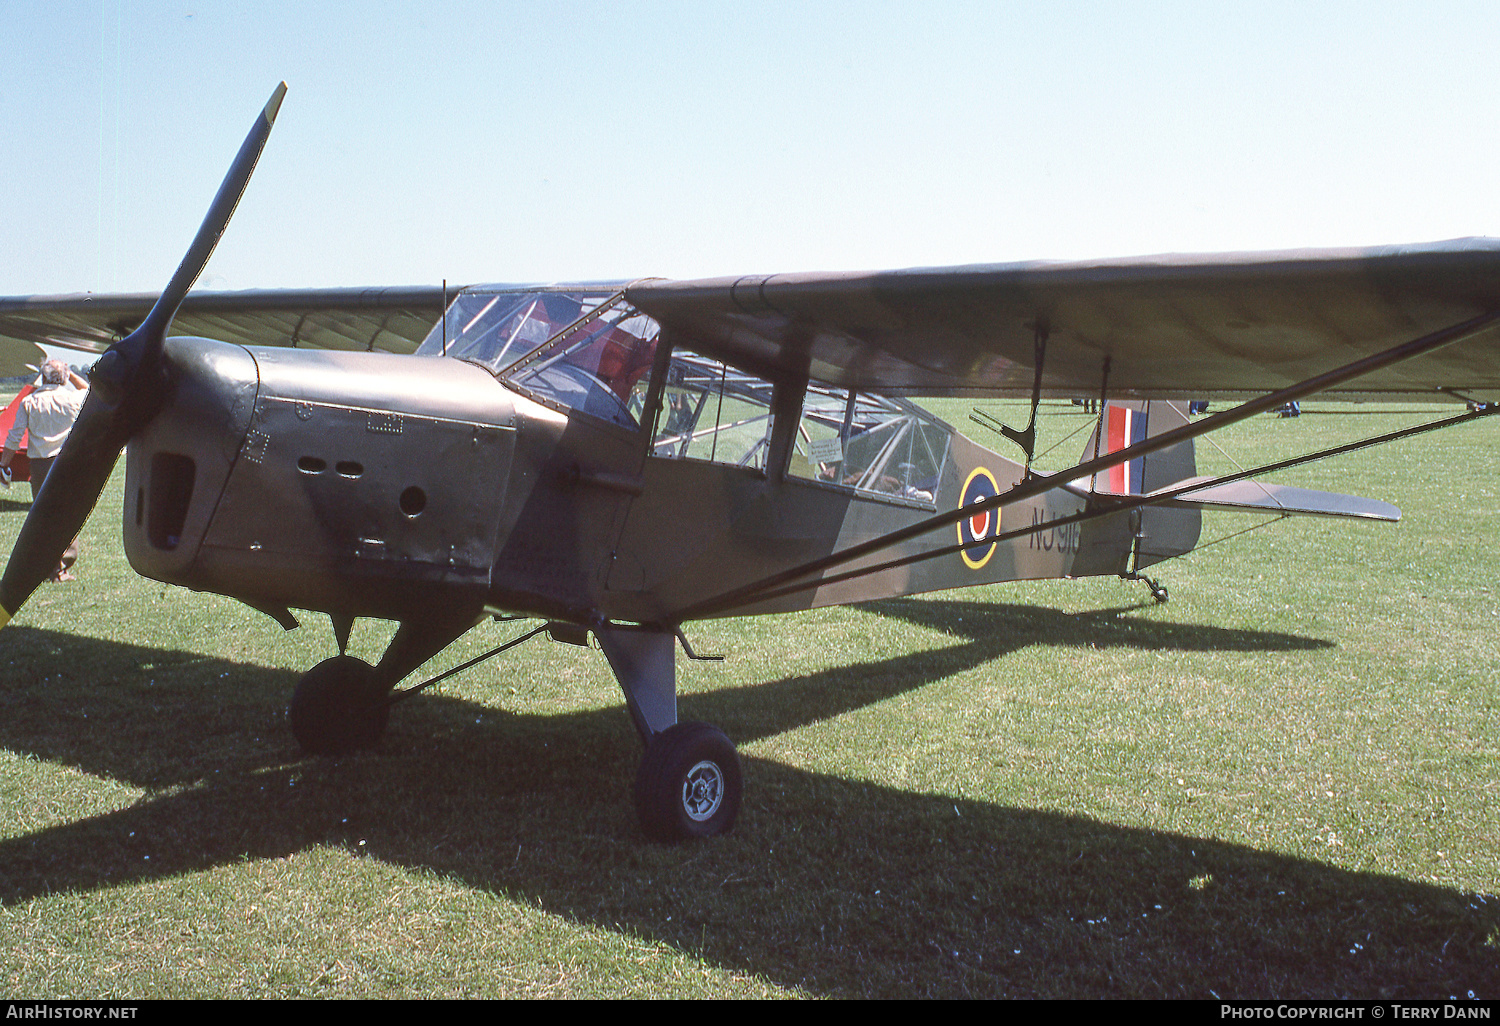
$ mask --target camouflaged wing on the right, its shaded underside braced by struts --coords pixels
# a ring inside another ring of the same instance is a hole
[[[1500,309],[1500,240],[1066,264],[646,280],[676,344],[765,376],[896,394],[1208,399],[1272,392]],[[1500,398],[1500,330],[1346,398]]]

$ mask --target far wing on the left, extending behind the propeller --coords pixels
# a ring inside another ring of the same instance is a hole
[[[442,315],[442,297],[438,286],[194,292],[171,333],[243,345],[411,352]],[[129,334],[154,302],[154,292],[0,298],[0,376],[24,374],[22,363],[36,362],[33,342],[98,356]]]

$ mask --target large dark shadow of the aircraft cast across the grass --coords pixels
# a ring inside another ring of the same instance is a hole
[[[686,694],[682,718],[747,742],[1030,644],[1328,646],[1120,610],[870,609],[966,640]],[[0,693],[0,744],[148,792],[0,840],[8,904],[327,844],[836,996],[854,993],[850,966],[867,996],[1296,996],[1330,994],[1336,976],[1344,993],[1416,998],[1500,984],[1490,896],[756,758],[735,834],[663,849],[620,801],[639,741],[618,708],[525,716],[428,694],[396,711],[380,752],[304,759],[280,723],[294,674],[26,627],[0,654],[22,670]],[[32,678],[33,660],[78,669]],[[1400,936],[1380,926],[1392,908],[1406,912]]]

